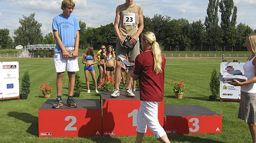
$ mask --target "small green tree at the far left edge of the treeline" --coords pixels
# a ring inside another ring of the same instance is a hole
[[[9,29],[0,29],[0,49],[6,49],[7,47],[11,48],[12,39],[9,36]]]

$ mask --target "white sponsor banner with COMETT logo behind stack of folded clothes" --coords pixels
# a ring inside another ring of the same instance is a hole
[[[245,63],[241,62],[221,62],[220,71],[233,71],[241,70],[244,74],[243,65]],[[223,83],[220,81],[220,93],[221,98],[230,98],[230,99],[241,99],[241,88],[240,86],[232,86],[228,83]]]

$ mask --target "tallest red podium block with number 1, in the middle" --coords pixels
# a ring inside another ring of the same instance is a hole
[[[137,134],[137,114],[140,107],[139,91],[133,92],[135,97],[126,97],[124,91],[120,96],[112,98],[112,91],[102,91],[102,135],[103,136],[135,136]],[[158,120],[163,126],[164,101],[158,106]],[[145,135],[153,135],[148,129]]]

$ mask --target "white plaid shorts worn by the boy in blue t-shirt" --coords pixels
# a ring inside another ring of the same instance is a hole
[[[54,65],[56,72],[66,71],[66,65],[67,71],[79,71],[78,58],[64,58],[62,52],[54,52]]]

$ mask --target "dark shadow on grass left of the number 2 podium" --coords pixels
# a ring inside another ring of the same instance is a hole
[[[9,112],[7,114],[9,117],[14,117],[16,119],[22,120],[26,123],[32,123],[26,132],[30,133],[31,135],[35,135],[38,137],[38,118],[28,113],[19,113],[19,112]]]

